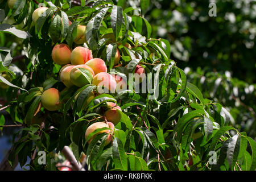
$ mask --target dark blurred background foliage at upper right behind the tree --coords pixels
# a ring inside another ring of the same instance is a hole
[[[208,14],[210,3],[216,5],[216,16]],[[205,98],[228,107],[233,125],[255,139],[256,1],[151,0],[145,18],[151,37],[171,43],[171,57],[188,81]]]

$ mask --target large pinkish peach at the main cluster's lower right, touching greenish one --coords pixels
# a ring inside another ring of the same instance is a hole
[[[92,84],[97,86],[104,86],[103,90],[98,89],[99,93],[114,93],[115,88],[117,87],[117,82],[115,82],[113,76],[106,72],[101,72],[95,75]]]

